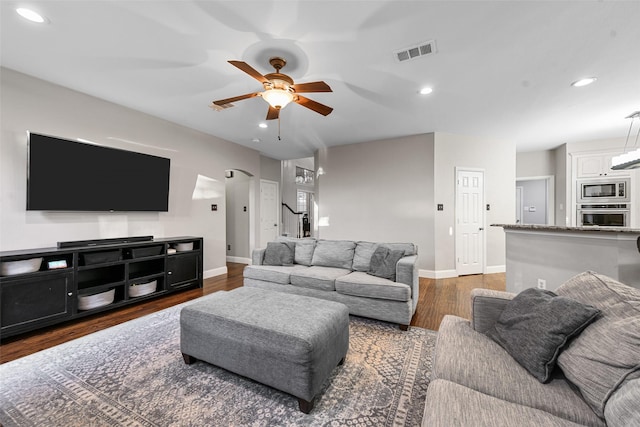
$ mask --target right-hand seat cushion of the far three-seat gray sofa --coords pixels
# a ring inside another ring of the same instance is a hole
[[[362,271],[354,271],[337,278],[336,291],[343,295],[392,301],[409,301],[411,299],[409,285],[371,276]]]

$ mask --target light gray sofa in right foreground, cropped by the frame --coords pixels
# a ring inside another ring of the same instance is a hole
[[[640,426],[640,290],[585,272],[556,293],[599,313],[562,343],[555,369],[545,365],[546,383],[488,336],[514,294],[475,289],[470,322],[446,316],[422,425]]]

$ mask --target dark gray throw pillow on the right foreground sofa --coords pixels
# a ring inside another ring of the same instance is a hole
[[[530,288],[509,301],[487,335],[538,381],[546,383],[563,347],[599,313],[551,291]]]

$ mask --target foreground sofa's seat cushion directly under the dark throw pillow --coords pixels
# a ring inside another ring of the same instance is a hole
[[[474,331],[470,322],[460,317],[445,316],[440,323],[432,378],[449,380],[575,423],[605,425],[565,379],[540,383],[496,342]]]

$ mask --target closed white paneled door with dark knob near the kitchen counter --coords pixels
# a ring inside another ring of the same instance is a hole
[[[484,171],[456,171],[456,270],[484,272]]]

